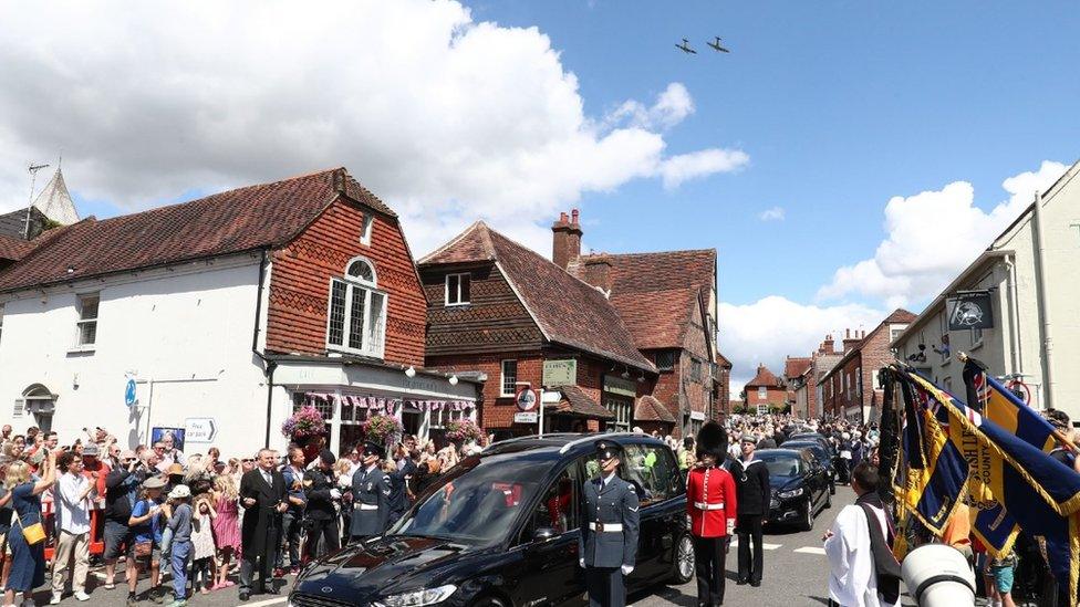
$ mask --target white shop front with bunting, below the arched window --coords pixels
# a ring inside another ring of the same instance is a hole
[[[374,416],[393,417],[403,433],[419,442],[434,440],[439,448],[449,422],[476,421],[482,384],[472,378],[341,358],[274,360],[274,389],[287,398],[285,415],[315,407],[334,453],[364,440],[364,423]]]

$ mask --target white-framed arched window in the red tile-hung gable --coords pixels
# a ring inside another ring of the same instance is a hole
[[[353,258],[341,279],[330,280],[326,349],[383,357],[386,342],[386,293],[375,289],[375,264]]]

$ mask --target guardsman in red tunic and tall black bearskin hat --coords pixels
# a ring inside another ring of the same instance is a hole
[[[735,479],[720,468],[726,456],[727,432],[709,421],[697,433],[697,467],[686,477],[698,607],[724,605],[724,562],[738,507]]]

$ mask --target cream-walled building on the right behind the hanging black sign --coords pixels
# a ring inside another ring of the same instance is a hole
[[[1080,164],[1072,165],[893,341],[897,357],[963,397],[970,354],[989,373],[1024,386],[1032,407],[1080,418]],[[973,257],[976,254],[972,252]],[[946,301],[989,293],[993,328],[948,329]]]

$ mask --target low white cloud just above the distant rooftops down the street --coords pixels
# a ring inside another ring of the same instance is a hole
[[[731,398],[754,378],[758,364],[783,373],[787,356],[809,356],[825,334],[840,347],[844,329],[871,331],[886,311],[859,304],[802,305],[770,295],[746,305],[720,302],[719,348],[731,362]]]

